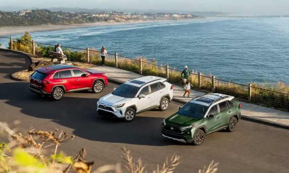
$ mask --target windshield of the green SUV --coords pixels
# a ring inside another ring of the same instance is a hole
[[[184,105],[177,113],[179,115],[189,116],[192,118],[203,118],[207,110],[208,106],[189,102]]]

